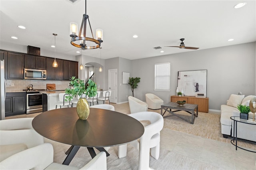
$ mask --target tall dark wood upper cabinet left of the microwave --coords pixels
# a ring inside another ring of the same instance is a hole
[[[6,79],[24,78],[24,54],[7,52],[4,62]]]

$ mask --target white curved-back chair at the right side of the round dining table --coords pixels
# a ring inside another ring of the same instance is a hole
[[[138,112],[129,115],[138,121],[150,121],[149,125],[144,126],[144,134],[138,140],[130,142],[134,148],[139,150],[139,170],[149,169],[149,156],[156,160],[160,153],[160,131],[164,127],[163,117],[156,112]],[[118,157],[125,157],[127,144],[118,146]]]

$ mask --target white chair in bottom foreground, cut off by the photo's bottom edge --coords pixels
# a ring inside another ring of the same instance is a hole
[[[0,162],[0,169],[4,170],[106,170],[106,153],[98,153],[84,167],[77,168],[53,162],[53,147],[50,143],[44,143],[29,148]]]

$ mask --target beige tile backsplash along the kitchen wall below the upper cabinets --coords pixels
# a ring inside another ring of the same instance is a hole
[[[52,80],[6,80],[6,91],[22,91],[32,84],[34,89],[46,89],[46,84],[56,84],[56,89],[70,88],[70,81],[52,81]],[[12,86],[13,85],[13,86]]]

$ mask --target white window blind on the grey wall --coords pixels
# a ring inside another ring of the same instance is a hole
[[[155,91],[170,91],[170,63],[155,64]]]

